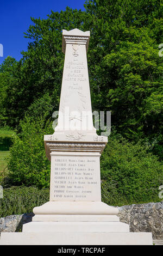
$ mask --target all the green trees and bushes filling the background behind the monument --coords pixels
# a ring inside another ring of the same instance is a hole
[[[62,29],[90,31],[92,111],[111,111],[111,135],[101,156],[103,202],[161,200],[162,0],[92,0],[84,7],[85,11],[68,7],[60,13],[52,11],[45,20],[32,18],[33,25],[24,33],[30,42],[22,59],[7,57],[0,65],[0,152],[10,147],[7,167],[4,164],[0,170],[5,187],[0,200],[3,209],[23,205],[10,214],[27,211],[28,194],[32,202],[37,190],[43,199],[34,206],[48,200],[50,162],[43,135],[54,132],[52,114],[59,109]],[[17,201],[15,191],[24,194],[23,203]],[[7,215],[2,208],[0,215]]]

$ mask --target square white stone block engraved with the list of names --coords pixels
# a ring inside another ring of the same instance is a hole
[[[50,200],[100,201],[99,157],[52,156]]]

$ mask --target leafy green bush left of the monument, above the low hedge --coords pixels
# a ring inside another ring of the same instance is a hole
[[[52,124],[41,118],[26,118],[21,133],[14,138],[8,160],[9,184],[49,187],[50,162],[45,154],[43,135],[53,133]]]

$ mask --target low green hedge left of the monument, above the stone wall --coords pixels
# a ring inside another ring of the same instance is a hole
[[[33,212],[35,206],[49,201],[49,189],[36,187],[4,188],[3,198],[0,198],[0,218]]]

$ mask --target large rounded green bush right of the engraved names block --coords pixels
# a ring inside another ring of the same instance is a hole
[[[157,202],[162,174],[158,157],[145,145],[109,137],[101,156],[102,200],[112,205]]]

